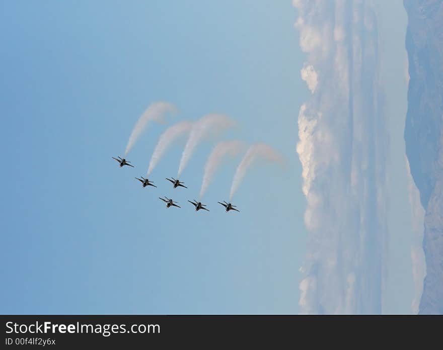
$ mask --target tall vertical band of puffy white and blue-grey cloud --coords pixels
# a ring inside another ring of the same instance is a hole
[[[312,92],[298,119],[309,231],[301,313],[381,313],[388,136],[377,17],[362,0],[293,5]]]

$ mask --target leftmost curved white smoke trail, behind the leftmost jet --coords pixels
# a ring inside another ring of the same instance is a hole
[[[131,150],[135,141],[140,137],[143,130],[146,128],[147,123],[151,120],[157,123],[164,122],[164,115],[168,112],[175,113],[177,109],[174,105],[169,102],[154,102],[151,104],[138,118],[137,123],[132,129],[131,135],[129,136],[128,144],[126,145],[125,155]]]

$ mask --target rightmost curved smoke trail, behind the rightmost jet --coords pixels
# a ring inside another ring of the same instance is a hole
[[[246,175],[246,170],[257,160],[264,159],[268,162],[282,162],[283,157],[277,153],[271,146],[264,143],[257,143],[248,148],[245,156],[237,167],[234,179],[231,186],[231,194],[229,199],[236,193],[239,188],[240,182]]]

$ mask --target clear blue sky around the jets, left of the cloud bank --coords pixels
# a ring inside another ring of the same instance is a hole
[[[306,244],[297,115],[308,96],[290,2],[47,1],[0,4],[2,313],[297,313]],[[177,120],[226,113],[226,135],[266,142],[286,170],[257,167],[225,213],[237,162],[195,212],[212,143],[172,189],[177,145],[142,189],[164,127],[119,168],[152,102]],[[181,209],[166,210],[171,196]]]

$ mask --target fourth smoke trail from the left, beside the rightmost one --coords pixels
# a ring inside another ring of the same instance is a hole
[[[200,198],[206,192],[209,183],[211,182],[215,170],[220,165],[221,161],[226,155],[235,157],[244,148],[243,142],[241,141],[223,141],[218,143],[212,153],[209,155],[206,164],[204,166],[203,181],[201,183]]]

